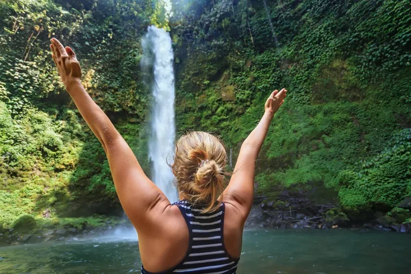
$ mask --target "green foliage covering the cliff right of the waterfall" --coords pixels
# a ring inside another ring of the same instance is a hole
[[[270,92],[286,87],[257,162],[260,192],[323,182],[345,206],[395,206],[410,192],[410,155],[390,143],[411,126],[408,1],[267,2],[270,18],[253,0],[191,1],[171,18],[178,128],[220,135],[235,158]]]

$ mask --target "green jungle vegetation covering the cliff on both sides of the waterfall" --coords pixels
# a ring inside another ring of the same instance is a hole
[[[6,226],[45,211],[121,211],[104,151],[59,82],[51,37],[76,51],[88,92],[149,173],[140,41],[151,24],[173,39],[179,134],[219,135],[235,160],[266,97],[288,89],[260,153],[258,192],[318,182],[342,207],[387,212],[411,196],[409,1],[173,0],[171,17],[160,2],[0,0]]]

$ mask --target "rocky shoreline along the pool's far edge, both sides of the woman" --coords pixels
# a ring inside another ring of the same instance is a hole
[[[411,233],[411,197],[395,208],[373,208],[359,211],[338,206],[333,199],[314,199],[312,193],[321,192],[311,187],[301,190],[279,188],[275,197],[255,196],[246,227],[273,229],[375,229]],[[48,219],[44,223],[33,216],[21,216],[12,228],[0,222],[0,247],[41,242],[79,240],[114,235],[116,229],[134,232],[127,219],[94,216],[86,219]],[[121,232],[121,233],[122,233]],[[121,234],[119,235],[121,237]]]

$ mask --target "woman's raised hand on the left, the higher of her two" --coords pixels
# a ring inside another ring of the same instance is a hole
[[[63,47],[62,43],[55,38],[51,38],[51,51],[53,52],[53,60],[57,66],[58,73],[62,79],[66,90],[72,84],[81,82],[82,68],[75,56],[73,49],[70,47]]]

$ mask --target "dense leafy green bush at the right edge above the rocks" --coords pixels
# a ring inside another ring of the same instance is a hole
[[[359,172],[339,175],[344,206],[369,208],[373,203],[394,207],[411,194],[411,130],[403,129],[379,155],[363,161]]]

